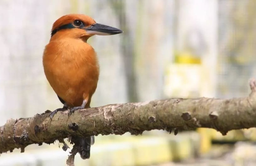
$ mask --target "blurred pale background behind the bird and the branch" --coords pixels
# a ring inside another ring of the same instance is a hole
[[[100,80],[92,107],[173,97],[245,97],[256,76],[256,1],[1,0],[0,125],[62,107],[42,66],[53,22],[83,13],[124,31],[88,40]],[[91,158],[76,166],[256,164],[256,130],[221,136],[211,129],[97,136]],[[60,147],[60,148],[59,148]],[[1,154],[0,165],[65,165],[62,145]]]

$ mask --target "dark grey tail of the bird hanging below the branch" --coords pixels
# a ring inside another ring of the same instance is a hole
[[[89,159],[91,145],[94,144],[94,136],[89,136],[84,138],[79,137],[78,140],[79,140],[78,153],[80,154],[82,159]]]

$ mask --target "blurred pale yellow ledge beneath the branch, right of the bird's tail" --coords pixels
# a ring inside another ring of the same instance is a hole
[[[193,158],[199,153],[199,146],[200,137],[196,132],[180,132],[176,136],[163,131],[158,132],[157,136],[154,132],[142,136],[116,135],[111,139],[97,140],[87,163],[90,166],[157,165]],[[84,163],[79,156],[75,161],[78,165]]]

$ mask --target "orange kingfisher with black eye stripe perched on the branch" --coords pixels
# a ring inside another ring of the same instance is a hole
[[[44,48],[44,74],[68,116],[78,109],[90,108],[99,79],[99,62],[95,50],[87,40],[93,35],[113,35],[123,31],[96,23],[84,14],[68,14],[57,19],[51,30],[51,38]],[[78,152],[82,159],[90,158],[94,136],[79,137]]]

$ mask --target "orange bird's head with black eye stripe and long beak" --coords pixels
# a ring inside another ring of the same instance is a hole
[[[84,14],[68,14],[53,23],[51,37],[66,36],[86,41],[94,34],[112,35],[122,32],[120,29],[98,24],[91,17]]]

